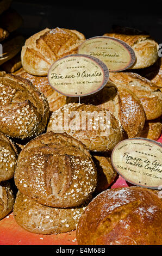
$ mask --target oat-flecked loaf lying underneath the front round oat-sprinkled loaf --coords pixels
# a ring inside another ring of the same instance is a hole
[[[65,233],[76,229],[79,218],[89,202],[90,199],[75,208],[53,208],[39,204],[18,191],[14,218],[23,229],[36,234]]]

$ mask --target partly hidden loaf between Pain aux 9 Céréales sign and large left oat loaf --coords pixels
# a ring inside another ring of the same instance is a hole
[[[29,79],[45,95],[50,111],[55,111],[66,104],[66,96],[58,93],[50,86],[47,76],[33,76],[24,70],[20,71],[20,74],[17,73],[17,75]]]

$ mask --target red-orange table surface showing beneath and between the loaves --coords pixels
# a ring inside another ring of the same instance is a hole
[[[162,143],[162,135],[158,139]],[[131,186],[120,175],[111,186]],[[13,212],[0,221],[0,245],[77,245],[76,231],[58,235],[38,235],[22,229],[14,220]]]

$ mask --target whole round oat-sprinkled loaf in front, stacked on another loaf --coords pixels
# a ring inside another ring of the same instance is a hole
[[[71,136],[48,132],[18,155],[15,184],[24,195],[56,208],[82,204],[97,182],[91,155]]]

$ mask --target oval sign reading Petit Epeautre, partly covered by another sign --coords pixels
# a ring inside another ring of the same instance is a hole
[[[102,60],[110,72],[130,68],[135,62],[135,53],[126,42],[110,36],[95,36],[85,40],[78,53],[89,54]]]

